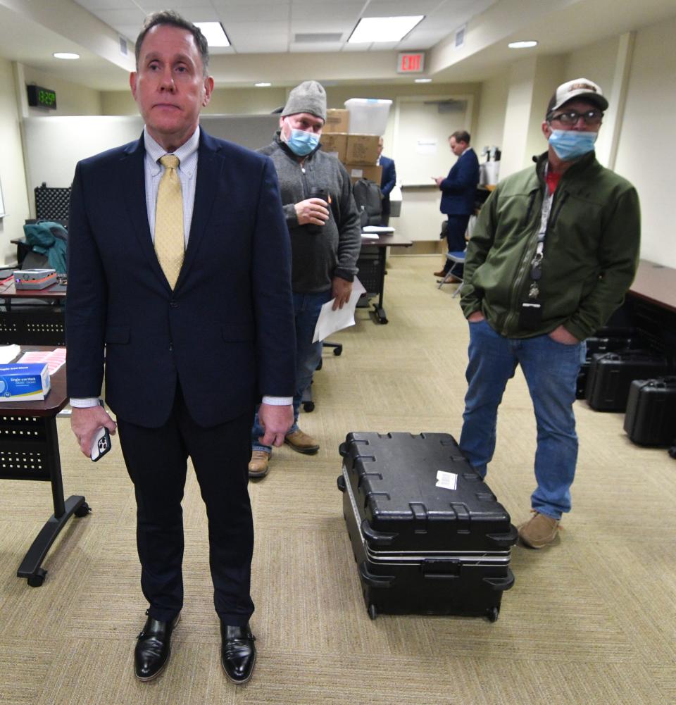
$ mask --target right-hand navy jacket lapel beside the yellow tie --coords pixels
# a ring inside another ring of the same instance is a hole
[[[207,223],[216,198],[216,184],[219,183],[221,177],[221,159],[218,157],[218,152],[219,145],[204,132],[204,128],[199,128],[195,205],[192,207],[188,247],[185,250],[185,259],[176,282],[176,288],[180,286],[183,278],[188,276],[190,266],[195,262],[197,250],[207,231]]]

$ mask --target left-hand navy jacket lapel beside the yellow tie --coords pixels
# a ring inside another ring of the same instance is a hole
[[[166,276],[155,254],[152,235],[148,223],[148,209],[145,202],[145,147],[143,135],[138,142],[133,142],[122,157],[121,176],[123,179],[124,203],[133,224],[134,234],[141,251],[148,260],[152,271],[159,276],[160,281],[168,286]]]

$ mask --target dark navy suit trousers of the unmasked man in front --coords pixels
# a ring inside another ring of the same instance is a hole
[[[149,615],[173,619],[183,608],[183,489],[188,456],[209,522],[214,606],[227,625],[244,626],[250,596],[254,527],[248,484],[251,410],[225,424],[199,427],[177,384],[167,422],[146,428],[118,418],[120,445],[134,483],[141,589]]]

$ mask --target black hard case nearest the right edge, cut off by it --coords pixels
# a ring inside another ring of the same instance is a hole
[[[676,377],[635,379],[629,388],[625,431],[639,446],[670,446],[676,439]]]

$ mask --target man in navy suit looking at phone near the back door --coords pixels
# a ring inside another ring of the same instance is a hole
[[[469,133],[457,130],[448,137],[450,151],[458,158],[448,172],[448,176],[435,178],[436,185],[441,189],[441,205],[439,209],[448,215],[446,225],[446,240],[448,252],[462,252],[465,250],[465,231],[469,216],[474,213],[474,200],[479,185],[479,159],[472,147],[469,147]],[[453,263],[447,259],[441,271],[434,272],[434,276],[445,277]],[[462,265],[460,265],[462,267]],[[462,269],[457,265],[454,271],[462,276]],[[451,276],[450,281],[460,281]]]

